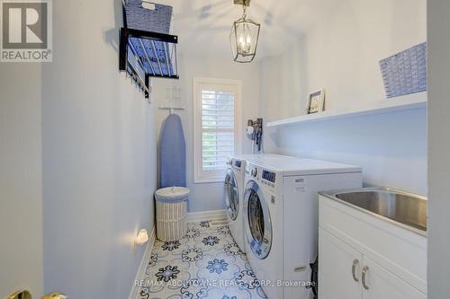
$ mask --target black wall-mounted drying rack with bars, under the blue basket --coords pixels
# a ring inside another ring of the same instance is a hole
[[[135,78],[148,99],[149,78],[179,79],[175,35],[121,28],[119,69]],[[138,79],[139,78],[139,79]]]

